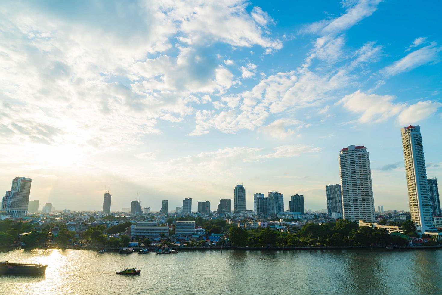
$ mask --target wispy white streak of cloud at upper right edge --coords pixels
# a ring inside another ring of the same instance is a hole
[[[409,53],[407,56],[395,61],[392,65],[381,70],[385,77],[392,77],[400,73],[411,71],[421,65],[431,62],[438,62],[439,52],[442,50],[436,43],[425,46],[421,49]]]

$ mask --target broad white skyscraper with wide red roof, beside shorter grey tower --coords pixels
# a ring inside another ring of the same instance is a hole
[[[343,218],[374,221],[370,155],[365,146],[348,146],[339,155]]]

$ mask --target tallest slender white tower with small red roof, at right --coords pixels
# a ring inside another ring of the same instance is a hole
[[[431,199],[428,189],[427,169],[423,156],[422,136],[419,126],[400,129],[407,175],[408,204],[410,214],[419,235],[435,232],[431,217]]]

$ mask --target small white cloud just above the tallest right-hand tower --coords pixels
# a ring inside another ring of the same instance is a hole
[[[400,124],[408,126],[410,124],[418,123],[422,119],[433,115],[442,103],[435,101],[419,101],[418,103],[412,104],[405,108],[397,117]]]

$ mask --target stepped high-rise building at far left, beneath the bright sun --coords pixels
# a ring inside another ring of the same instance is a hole
[[[11,190],[6,192],[2,199],[1,210],[14,216],[27,214],[29,206],[30,184],[32,179],[26,177],[15,177],[12,180]]]

